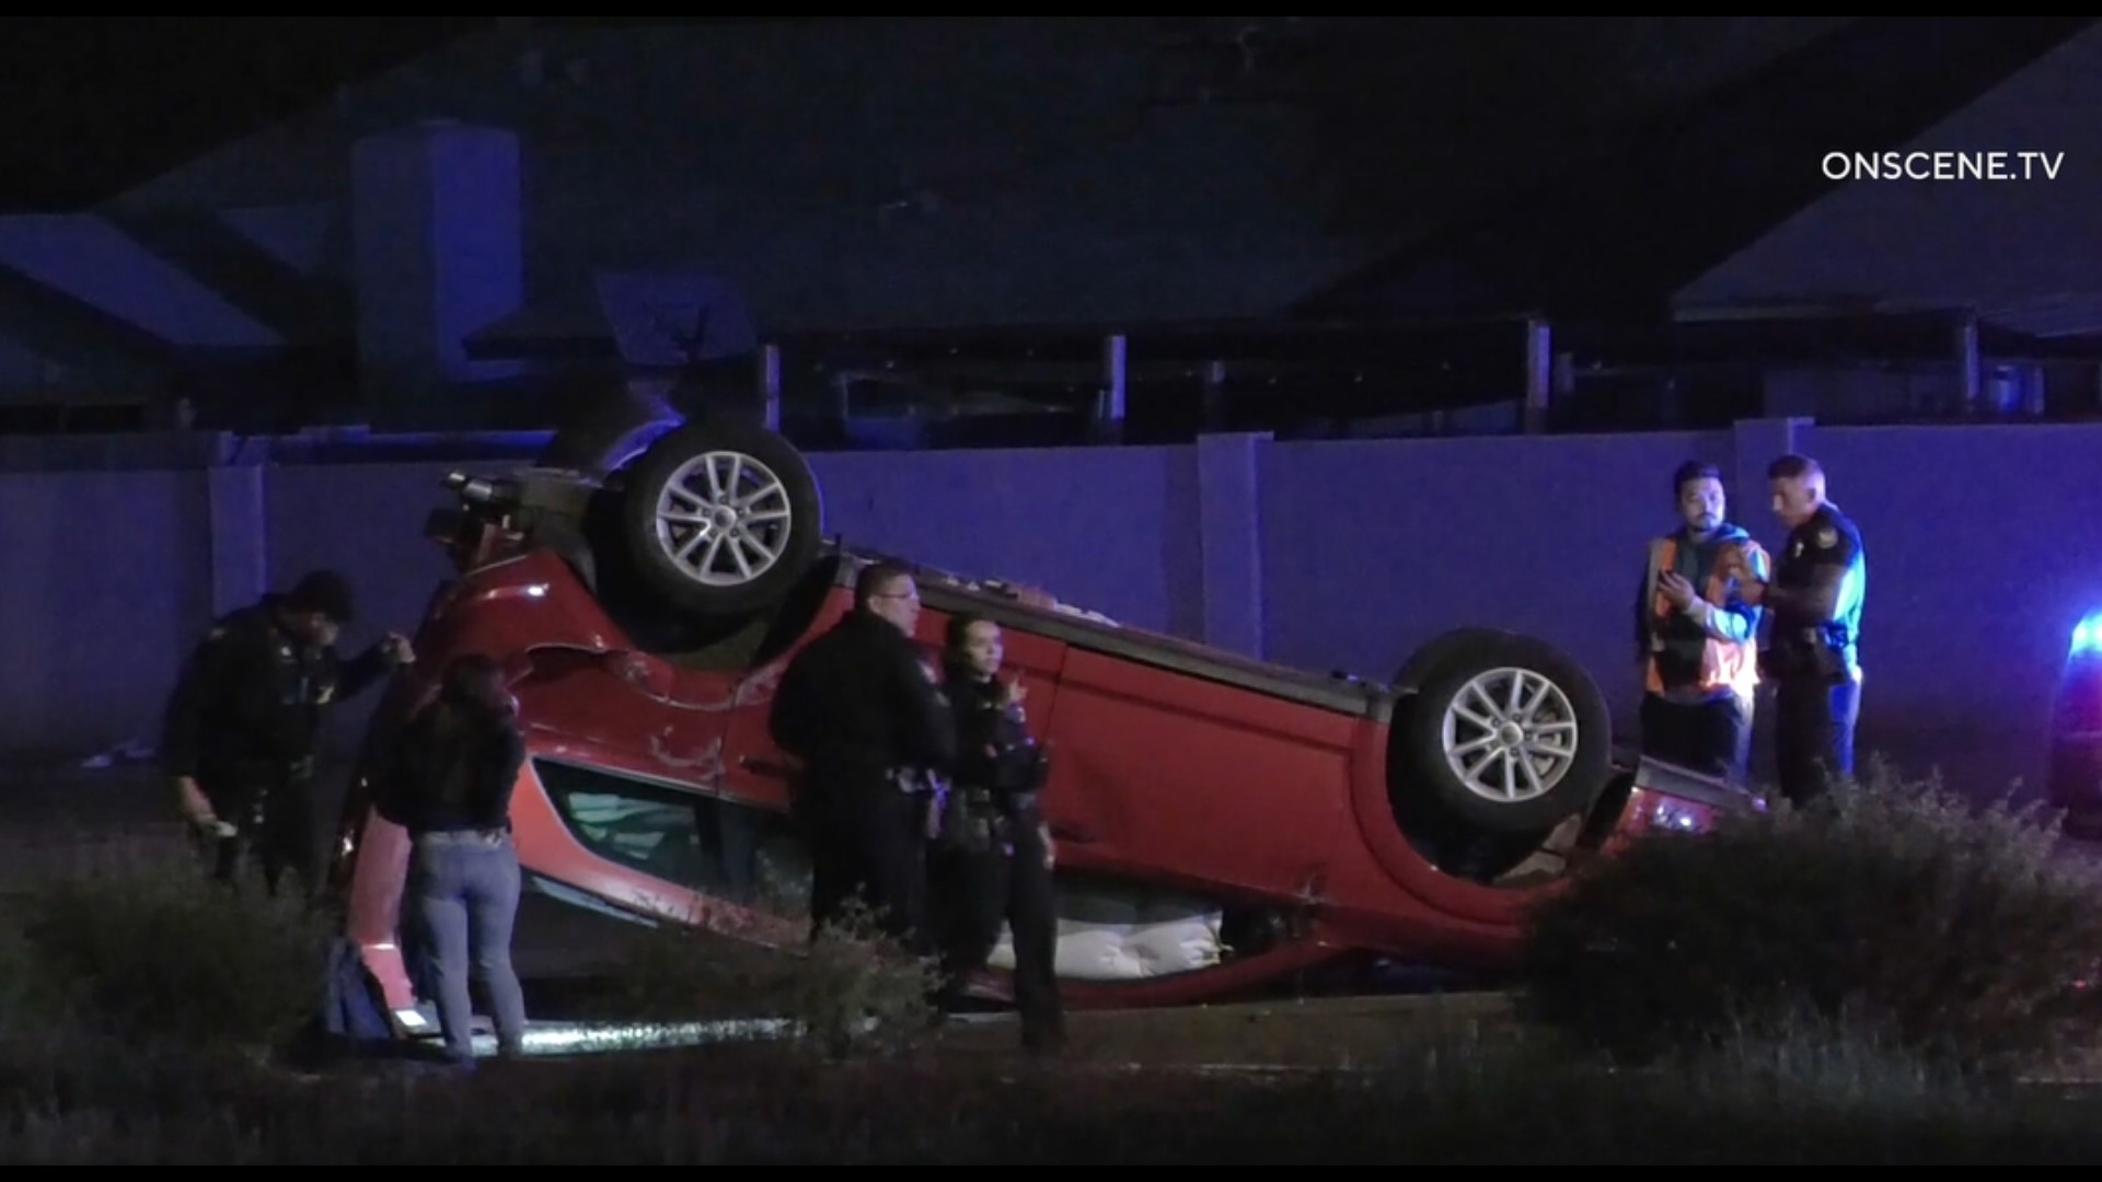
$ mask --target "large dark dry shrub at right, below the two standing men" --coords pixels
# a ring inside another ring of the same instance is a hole
[[[1928,1062],[2091,1047],[2102,879],[2056,818],[1888,768],[1818,808],[1656,835],[1537,906],[1528,1016],[1621,1058],[1837,1022]]]

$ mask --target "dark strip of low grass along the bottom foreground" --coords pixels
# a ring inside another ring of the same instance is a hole
[[[1362,1071],[1032,1066],[937,1045],[822,1062],[719,1047],[454,1075],[15,1041],[6,1163],[1734,1163],[2077,1161],[2094,1102],[1993,1092],[1875,1045],[1747,1041],[1616,1073],[1526,1037]]]

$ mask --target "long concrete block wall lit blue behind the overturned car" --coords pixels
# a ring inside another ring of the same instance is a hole
[[[2041,774],[2066,637],[2102,608],[2102,427],[1715,433],[816,454],[828,530],[1045,585],[1112,618],[1316,669],[1389,675],[1457,625],[1579,656],[1633,719],[1642,545],[1673,465],[1732,473],[1768,545],[1764,465],[1820,456],[1871,559],[1864,747],[1997,789]],[[15,555],[0,751],[151,738],[217,608],[315,564],[357,576],[351,641],[412,627],[446,568],[420,538],[448,465],[0,475]],[[345,719],[355,726],[357,715]]]

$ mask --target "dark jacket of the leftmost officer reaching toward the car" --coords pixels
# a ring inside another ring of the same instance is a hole
[[[170,776],[238,778],[311,759],[322,707],[385,677],[380,646],[343,660],[280,629],[277,604],[267,595],[229,612],[191,652],[164,715]]]

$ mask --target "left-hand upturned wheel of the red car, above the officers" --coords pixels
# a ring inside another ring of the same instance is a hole
[[[626,473],[620,515],[650,591],[702,614],[774,604],[824,543],[809,465],[788,440],[729,416],[650,444]]]

